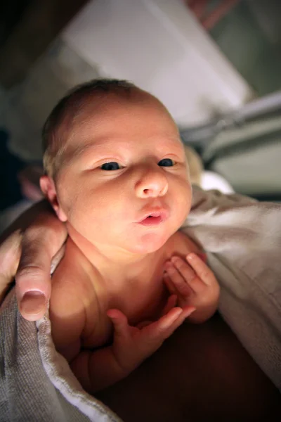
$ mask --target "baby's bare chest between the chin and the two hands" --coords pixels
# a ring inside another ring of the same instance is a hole
[[[169,293],[163,283],[164,262],[173,255],[185,257],[190,252],[200,249],[185,234],[177,232],[159,250],[151,267],[148,267],[140,279],[120,280],[119,289],[108,288],[110,283],[100,276],[93,283],[96,290],[98,306],[98,322],[96,309],[91,304],[86,307],[86,324],[82,343],[84,347],[100,347],[112,340],[112,323],[107,317],[108,309],[122,311],[131,325],[143,321],[158,319],[169,298]],[[105,287],[107,286],[107,287]]]

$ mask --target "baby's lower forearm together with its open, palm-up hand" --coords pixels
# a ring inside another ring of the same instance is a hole
[[[156,352],[193,310],[173,307],[158,321],[137,328],[129,326],[126,316],[118,309],[110,309],[107,314],[115,328],[112,345],[93,352],[82,351],[72,361],[72,371],[91,394],[117,383]]]

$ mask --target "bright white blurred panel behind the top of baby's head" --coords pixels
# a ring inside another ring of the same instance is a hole
[[[101,75],[155,94],[185,126],[253,93],[181,0],[94,0],[63,32]]]

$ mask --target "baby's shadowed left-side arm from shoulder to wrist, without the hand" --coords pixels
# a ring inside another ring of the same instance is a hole
[[[52,279],[50,319],[55,348],[69,362],[74,375],[88,392],[95,392],[116,383],[126,375],[120,368],[112,347],[98,350],[82,348],[81,338],[86,327],[86,303],[81,288],[81,274],[58,267]],[[75,282],[76,278],[76,282]],[[79,282],[77,283],[77,281]],[[99,321],[98,300],[91,295],[93,332]],[[89,305],[89,304],[88,304]],[[95,312],[96,311],[96,312]],[[91,335],[93,335],[93,332]]]

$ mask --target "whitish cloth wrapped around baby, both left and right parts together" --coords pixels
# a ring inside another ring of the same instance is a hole
[[[183,231],[207,251],[219,309],[281,391],[281,205],[194,189]],[[84,392],[55,351],[46,315],[20,316],[13,290],[0,308],[0,421],[119,421]]]

